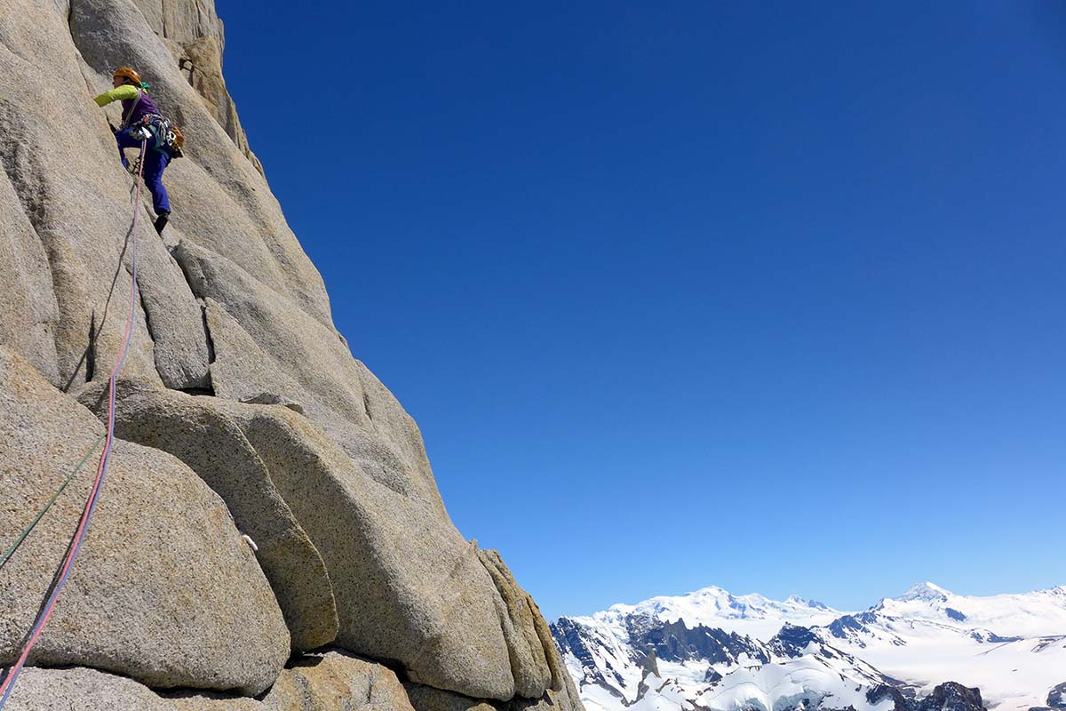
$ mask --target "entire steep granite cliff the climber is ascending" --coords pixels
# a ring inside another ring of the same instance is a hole
[[[581,709],[535,602],[456,531],[415,421],[334,327],[224,46],[212,0],[0,0],[0,540],[103,432],[122,345],[132,182],[92,97],[134,65],[188,136],[175,220],[141,233],[109,479],[7,708]],[[0,665],[88,479],[0,568]]]

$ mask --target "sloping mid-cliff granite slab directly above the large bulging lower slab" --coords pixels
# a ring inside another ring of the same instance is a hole
[[[273,392],[301,403],[375,481],[447,518],[418,426],[333,327],[236,262],[188,243],[174,254],[207,305],[216,394],[244,401]]]

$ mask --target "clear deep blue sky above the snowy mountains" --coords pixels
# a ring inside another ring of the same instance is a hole
[[[217,0],[253,149],[545,614],[1066,583],[1066,10]]]

